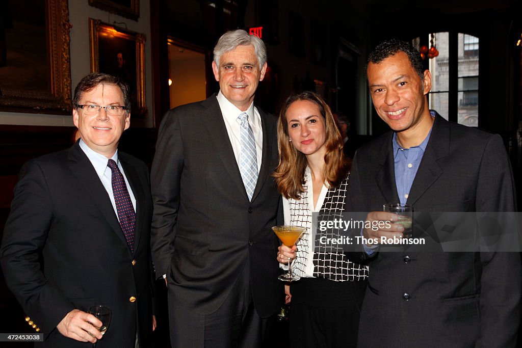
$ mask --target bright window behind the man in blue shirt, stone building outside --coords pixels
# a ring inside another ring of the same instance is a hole
[[[430,109],[449,121],[477,127],[479,115],[479,38],[464,33],[434,33],[439,55],[429,59]],[[430,42],[431,34],[427,42]],[[419,45],[420,38],[413,40]],[[426,42],[426,41],[425,41]]]

